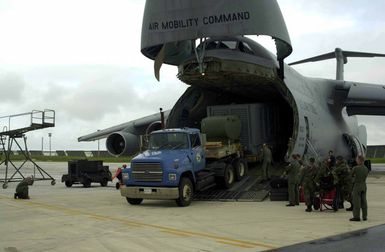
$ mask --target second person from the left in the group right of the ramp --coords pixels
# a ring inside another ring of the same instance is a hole
[[[303,187],[305,204],[307,206],[306,212],[312,211],[313,200],[316,191],[315,178],[317,176],[317,166],[315,165],[315,159],[310,158],[309,164],[306,165],[300,173],[300,185]]]

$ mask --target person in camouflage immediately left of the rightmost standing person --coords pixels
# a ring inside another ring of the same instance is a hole
[[[344,201],[350,202],[352,205],[352,188],[353,188],[353,178],[347,165],[346,160],[342,156],[338,156],[336,160],[336,167],[332,171],[334,184],[337,188],[338,196],[338,208],[344,208]],[[347,208],[349,211],[352,207]]]

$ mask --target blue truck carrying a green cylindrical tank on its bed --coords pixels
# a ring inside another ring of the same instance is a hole
[[[201,129],[162,129],[149,135],[147,150],[122,173],[120,192],[128,203],[171,199],[184,207],[195,191],[217,184],[230,188],[247,174],[238,116],[204,118]]]

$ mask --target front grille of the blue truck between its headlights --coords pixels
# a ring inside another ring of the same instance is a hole
[[[141,182],[162,182],[162,166],[160,163],[132,163],[132,178]]]

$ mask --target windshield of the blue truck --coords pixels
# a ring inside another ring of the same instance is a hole
[[[159,133],[150,135],[149,150],[187,149],[188,138],[186,133]]]

